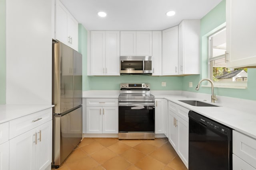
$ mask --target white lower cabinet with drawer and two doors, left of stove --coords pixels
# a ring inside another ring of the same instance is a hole
[[[117,99],[86,99],[86,133],[118,133]]]

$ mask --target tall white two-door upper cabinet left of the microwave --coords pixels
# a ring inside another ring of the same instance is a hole
[[[91,75],[119,76],[120,31],[91,31]]]

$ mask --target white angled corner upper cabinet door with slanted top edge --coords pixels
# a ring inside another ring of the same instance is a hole
[[[178,74],[178,26],[162,31],[162,75]]]

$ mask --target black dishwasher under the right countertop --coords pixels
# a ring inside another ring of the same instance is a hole
[[[189,170],[232,170],[232,129],[189,111]]]

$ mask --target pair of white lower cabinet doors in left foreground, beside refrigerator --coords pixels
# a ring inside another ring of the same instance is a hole
[[[52,162],[52,121],[10,140],[10,170],[44,170]]]

